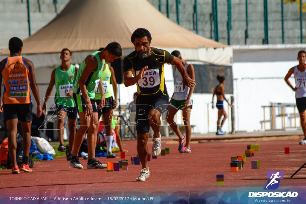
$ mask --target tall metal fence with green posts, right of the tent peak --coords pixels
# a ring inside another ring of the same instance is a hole
[[[149,2],[182,27],[220,43],[249,45],[306,42],[306,0]]]

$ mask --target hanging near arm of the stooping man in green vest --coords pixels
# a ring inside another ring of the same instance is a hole
[[[82,72],[82,75],[80,76],[80,79],[79,79],[78,83],[79,83],[80,90],[82,91],[82,95],[83,95],[83,97],[86,101],[86,115],[91,116],[92,105],[91,105],[89,96],[87,94],[87,89],[86,89],[85,82],[88,79],[91,71],[94,70],[97,67],[98,61],[97,61],[95,56],[89,55],[85,59],[85,64],[86,64],[86,66],[85,66],[85,68]],[[100,87],[100,88],[102,88],[102,87]],[[102,92],[102,93],[104,93],[104,92]],[[102,95],[102,93],[101,93],[101,95]],[[87,111],[87,110],[89,110],[89,111]]]

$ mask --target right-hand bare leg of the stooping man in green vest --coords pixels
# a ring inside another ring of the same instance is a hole
[[[95,158],[95,147],[97,144],[97,132],[99,128],[98,113],[92,113],[87,133],[88,160]]]

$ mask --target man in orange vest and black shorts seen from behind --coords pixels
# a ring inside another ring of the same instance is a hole
[[[21,39],[13,37],[9,40],[10,56],[0,62],[0,84],[4,83],[3,97],[0,100],[0,112],[8,130],[9,154],[12,159],[12,174],[20,173],[16,161],[17,123],[21,122],[23,142],[23,156],[20,170],[32,172],[28,165],[31,146],[32,98],[29,83],[37,103],[36,117],[42,114],[38,84],[35,80],[33,62],[20,56],[23,43]],[[1,97],[1,86],[0,86]]]

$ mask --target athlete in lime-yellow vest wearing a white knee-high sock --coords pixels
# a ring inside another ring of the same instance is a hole
[[[104,50],[103,47],[99,49],[99,51],[103,51],[103,50]],[[112,143],[113,143],[114,136],[113,136],[113,131],[112,131],[113,128],[111,125],[112,124],[111,119],[113,116],[113,109],[115,109],[118,104],[118,99],[117,99],[118,90],[117,90],[117,82],[115,78],[114,68],[109,66],[107,63],[105,63],[103,67],[101,81],[102,81],[102,87],[103,87],[104,96],[105,96],[105,104],[102,109],[98,109],[98,118],[100,119],[101,114],[103,114],[103,123],[105,125],[105,130],[106,130],[106,145],[107,145],[106,158],[115,158],[116,155],[113,154],[112,152]],[[113,85],[115,99],[113,98],[112,91],[110,90],[110,83],[112,83]],[[95,93],[95,99],[96,99],[97,104],[101,102],[100,100],[101,94],[99,93],[98,90]]]

